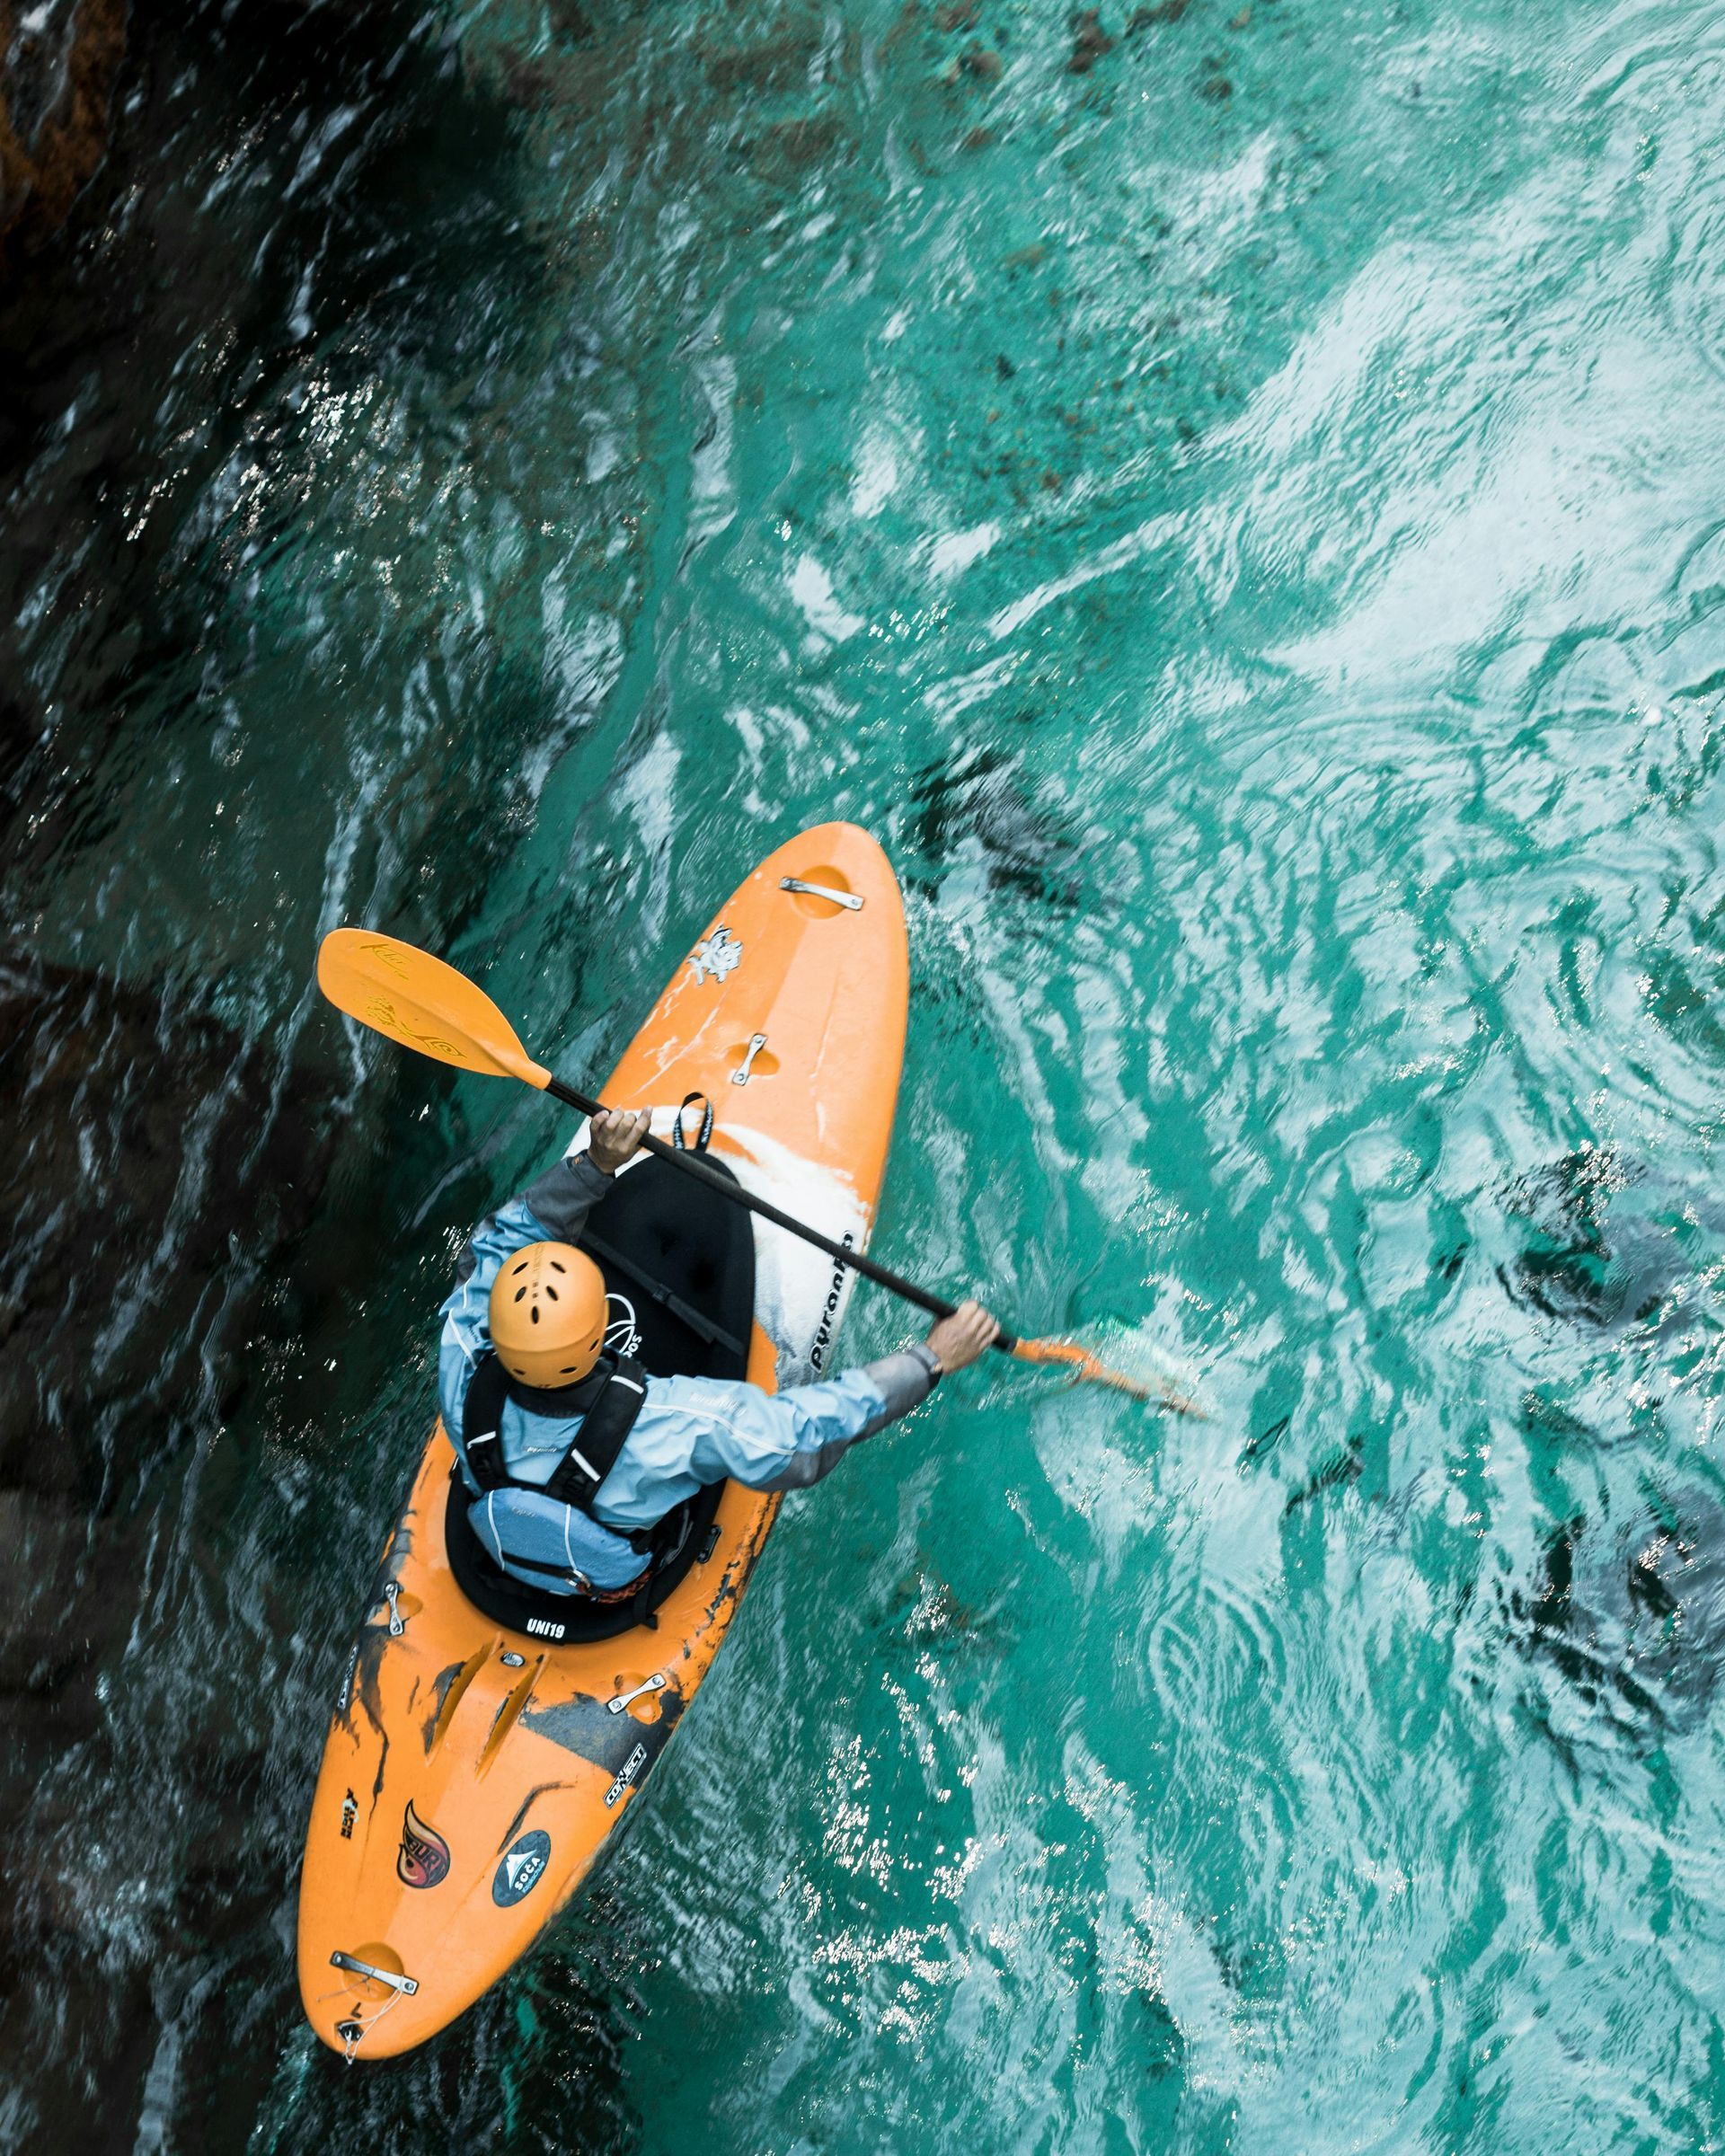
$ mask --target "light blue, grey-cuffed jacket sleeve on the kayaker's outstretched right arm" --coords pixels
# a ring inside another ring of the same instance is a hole
[[[653,1386],[653,1399],[681,1408],[699,1423],[690,1470],[703,1483],[729,1475],[750,1490],[806,1490],[830,1475],[860,1438],[871,1438],[925,1401],[934,1378],[934,1358],[912,1348],[787,1393],[671,1378]]]

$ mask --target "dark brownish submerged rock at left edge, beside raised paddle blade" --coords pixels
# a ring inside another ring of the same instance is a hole
[[[207,1438],[272,1328],[332,1145],[328,1084],[272,1100],[276,1078],[207,1011],[0,959],[0,1559],[22,1583],[0,1714],[50,1712],[6,1781],[82,1720],[78,1671],[129,1621],[129,1492]]]

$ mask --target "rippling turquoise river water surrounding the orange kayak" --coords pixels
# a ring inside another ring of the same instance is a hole
[[[164,15],[0,341],[4,2145],[1721,2147],[1719,13]],[[830,815],[875,1248],[1212,1419],[944,1386],[343,2072],[323,1725],[565,1128],[315,938],[602,1074]]]

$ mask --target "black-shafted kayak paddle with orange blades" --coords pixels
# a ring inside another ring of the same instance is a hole
[[[433,1056],[438,1063],[453,1063],[457,1069],[481,1072],[487,1078],[520,1078],[522,1084],[550,1093],[552,1100],[561,1100],[580,1115],[599,1112],[597,1100],[563,1084],[543,1063],[533,1061],[515,1039],[515,1028],[481,987],[474,987],[464,972],[446,966],[440,957],[431,957],[429,951],[397,942],[395,936],[373,936],[369,929],[332,929],[317,953],[317,985],[339,1011],[358,1018],[362,1026],[371,1026],[373,1033],[386,1035],[401,1048],[416,1048],[418,1054]],[[692,1175],[733,1205],[744,1205],[761,1220],[783,1227],[787,1235],[800,1235],[802,1242],[826,1250],[834,1263],[850,1266],[865,1281],[891,1287],[895,1296],[903,1296],[906,1302],[914,1302],[932,1317],[953,1315],[957,1304],[947,1302],[944,1296],[929,1294],[927,1287],[906,1281],[891,1266],[882,1266],[778,1212],[776,1205],[757,1199],[753,1190],[744,1190],[729,1175],[718,1175],[699,1153],[666,1145],[664,1138],[649,1136],[640,1143],[649,1153],[668,1160],[684,1175]],[[994,1345],[1022,1363],[1061,1363],[1074,1378],[1117,1386],[1136,1399],[1160,1399],[1182,1414],[1201,1412],[1197,1401],[1173,1391],[1167,1382],[1145,1384],[1128,1378],[1126,1371],[1110,1369],[1074,1341],[1020,1341],[1000,1332]]]

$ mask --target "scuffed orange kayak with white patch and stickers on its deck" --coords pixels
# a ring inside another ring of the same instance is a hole
[[[604,1100],[651,1104],[668,1136],[686,1095],[705,1095],[718,1164],[862,1248],[906,998],[891,862],[856,826],[822,824],[714,914]],[[690,1108],[684,1128],[694,1123]],[[748,1378],[772,1391],[830,1373],[854,1274],[768,1222],[753,1222],[753,1240]],[[576,1893],[640,1802],[778,1509],[727,1483],[653,1628],[558,1645],[546,1623],[485,1617],[457,1585],[444,1531],[453,1457],[438,1425],[384,1548],[306,1828],[300,1996],[349,2059],[448,2027]]]

